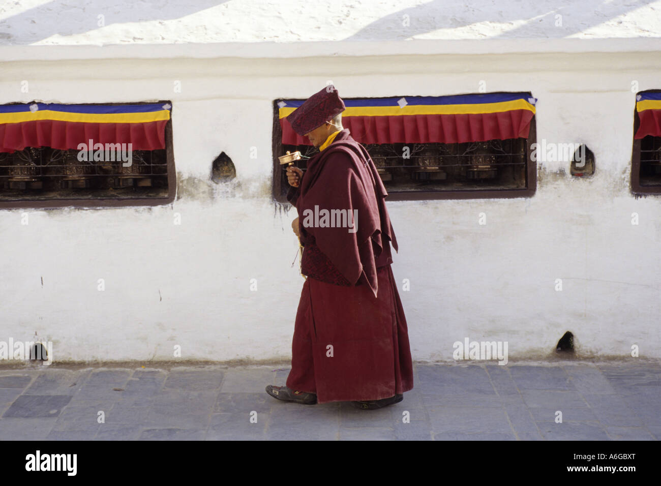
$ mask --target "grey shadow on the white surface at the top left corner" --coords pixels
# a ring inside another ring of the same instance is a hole
[[[55,0],[2,20],[0,22],[0,44],[32,44],[55,34],[71,36],[127,22],[134,25],[135,35],[140,36],[140,27],[136,22],[180,19],[227,1],[153,0],[151,2],[125,1],[115,5],[112,3],[102,5],[96,0],[84,0],[83,2]],[[103,16],[103,23],[100,25],[99,15]],[[66,19],[66,22],[61,22],[62,17]],[[130,28],[131,26],[127,26],[127,29]],[[12,42],[15,35],[20,35],[20,42]]]

